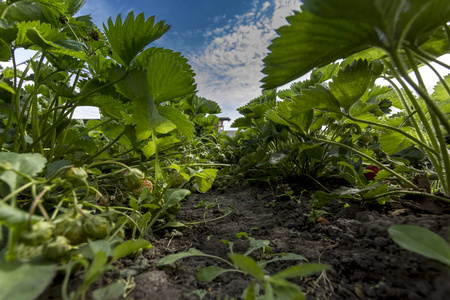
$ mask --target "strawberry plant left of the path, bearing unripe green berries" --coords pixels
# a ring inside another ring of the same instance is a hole
[[[130,12],[98,28],[74,17],[84,3],[0,2],[0,61],[12,63],[0,69],[0,268],[21,278],[2,278],[12,288],[0,298],[36,298],[57,268],[62,298],[84,298],[115,261],[151,247],[152,228],[179,226],[190,192],[169,179],[185,155],[174,149],[217,131],[220,108],[195,95],[187,59],[151,47],[169,25]],[[23,69],[20,48],[34,51]],[[98,107],[100,120],[73,120],[80,106]],[[192,163],[178,171],[206,192],[217,170]]]

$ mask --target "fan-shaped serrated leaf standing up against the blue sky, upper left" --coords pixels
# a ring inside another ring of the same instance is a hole
[[[148,44],[159,39],[167,30],[169,25],[164,21],[155,24],[155,16],[145,20],[144,14],[139,14],[136,19],[131,11],[122,23],[119,14],[114,24],[108,19],[108,26],[103,25],[105,35],[113,51],[113,58],[122,65],[129,66],[134,58]]]

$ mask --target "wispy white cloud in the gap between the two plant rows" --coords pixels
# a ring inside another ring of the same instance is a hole
[[[275,29],[299,8],[300,0],[255,0],[249,12],[235,16],[228,26],[206,32],[209,43],[188,55],[199,95],[218,102],[223,116],[238,118],[236,109],[261,94],[262,59]]]

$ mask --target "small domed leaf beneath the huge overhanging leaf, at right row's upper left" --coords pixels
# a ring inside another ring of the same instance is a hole
[[[326,87],[316,84],[314,87],[302,90],[294,96],[290,108],[293,112],[305,112],[311,109],[340,112],[339,101]],[[292,114],[295,116],[295,113]]]

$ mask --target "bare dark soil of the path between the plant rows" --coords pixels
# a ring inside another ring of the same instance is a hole
[[[212,207],[196,208],[201,201]],[[196,280],[200,268],[227,267],[218,260],[190,257],[161,269],[155,265],[163,257],[189,248],[227,259],[229,248],[222,239],[234,243],[235,253],[244,253],[249,241],[235,235],[246,232],[270,241],[272,253],[296,253],[309,262],[330,266],[326,272],[292,280],[307,299],[449,299],[450,268],[400,248],[388,236],[391,225],[411,224],[448,240],[449,210],[443,206],[440,213],[431,213],[412,205],[414,201],[417,199],[398,199],[384,206],[331,202],[323,208],[328,222],[322,223],[308,222],[306,193],[300,201],[287,196],[274,199],[267,186],[246,185],[225,193],[192,194],[183,202],[177,220],[199,224],[178,229],[181,234],[154,232],[151,250],[135,259],[120,260],[117,269],[105,273],[93,289],[128,278],[135,285],[127,299],[240,299],[251,282],[246,275],[230,272],[210,283]],[[203,222],[223,216],[228,207],[232,214]],[[252,256],[258,259],[257,254]],[[268,264],[266,270],[275,274],[298,263],[278,261]],[[40,299],[58,298],[57,291],[53,286]]]

